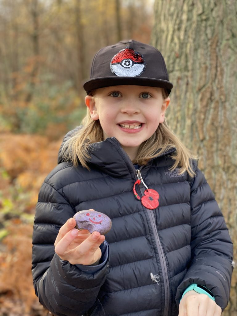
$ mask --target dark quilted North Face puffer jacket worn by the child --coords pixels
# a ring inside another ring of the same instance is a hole
[[[197,163],[195,178],[171,173],[170,151],[140,168],[144,183],[160,194],[155,210],[135,198],[135,168],[115,138],[93,145],[91,171],[61,162],[46,177],[36,208],[32,270],[36,294],[54,315],[174,316],[192,283],[210,289],[226,307],[228,229]],[[142,196],[142,183],[136,189]],[[112,229],[98,266],[72,265],[55,254],[54,241],[68,218],[90,208],[108,215]]]

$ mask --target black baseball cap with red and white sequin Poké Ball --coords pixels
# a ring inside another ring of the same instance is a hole
[[[94,56],[90,80],[84,83],[91,90],[117,85],[137,85],[165,88],[170,94],[166,64],[153,46],[136,40],[120,41],[100,49]]]

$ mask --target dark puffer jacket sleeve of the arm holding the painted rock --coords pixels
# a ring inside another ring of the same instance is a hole
[[[32,274],[40,303],[56,316],[82,315],[93,310],[109,266],[106,242],[101,245],[103,258],[97,266],[72,265],[54,252],[59,228],[74,214],[62,194],[44,182],[34,220]]]

